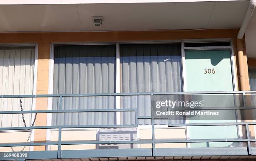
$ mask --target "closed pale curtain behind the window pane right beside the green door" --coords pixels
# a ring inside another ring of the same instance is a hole
[[[123,93],[180,92],[182,91],[180,43],[120,45],[120,71]],[[151,115],[150,96],[124,96],[121,106],[138,108],[140,116]],[[173,121],[177,122],[177,120]],[[123,112],[121,122],[134,124],[134,112]],[[139,124],[144,125],[150,123],[150,120],[139,121]],[[155,123],[167,124],[167,121],[155,120]]]

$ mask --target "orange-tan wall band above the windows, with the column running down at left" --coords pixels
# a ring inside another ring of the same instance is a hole
[[[38,76],[36,94],[48,94],[50,44],[52,42],[168,41],[195,38],[232,38],[233,50],[236,59],[237,33],[238,29],[196,31],[0,33],[0,43],[38,43]],[[238,66],[237,61],[236,66]],[[239,76],[238,70],[237,76]],[[238,79],[238,87],[240,87],[239,82],[240,81]],[[47,110],[47,98],[36,99],[36,110]],[[36,126],[46,125],[46,121],[46,114],[38,114]],[[45,129],[35,130],[35,142],[40,141],[46,141]],[[45,150],[45,146],[36,146],[34,147],[34,150]]]

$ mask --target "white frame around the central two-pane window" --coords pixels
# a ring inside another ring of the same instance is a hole
[[[52,95],[53,94],[53,74],[54,74],[54,46],[56,45],[115,45],[115,77],[116,77],[116,84],[115,84],[115,92],[120,93],[120,50],[119,46],[122,44],[157,44],[157,43],[181,43],[181,40],[173,40],[173,41],[121,41],[121,42],[108,42],[108,43],[79,43],[79,42],[72,42],[72,43],[51,43],[50,47],[50,61],[49,61],[49,86],[48,86],[48,94]],[[181,48],[182,49],[182,48]],[[182,67],[182,66],[181,66]],[[183,75],[183,74],[182,74]],[[119,82],[119,83],[118,83]],[[182,82],[183,83],[183,82]],[[184,85],[182,84],[182,87]],[[182,89],[183,90],[183,89]],[[118,99],[119,98],[119,99]],[[120,109],[120,96],[116,96],[116,108]],[[48,105],[47,105],[47,110],[52,110],[52,98],[48,98]],[[51,126],[51,113],[47,113],[47,126]],[[117,125],[120,125],[121,121],[121,115],[120,112],[117,112]],[[151,127],[151,125],[138,125],[137,127],[137,138],[140,138],[140,129],[148,129]],[[155,125],[156,129],[160,128],[174,128],[174,129],[180,129],[180,128],[185,128],[185,127],[169,127],[168,125]],[[80,128],[81,130],[82,128]],[[99,130],[99,128],[84,128],[86,130]],[[51,131],[54,131],[56,129],[46,129],[46,141],[51,141]],[[65,130],[70,130],[70,129],[65,129]],[[139,145],[139,144],[138,144]],[[46,146],[46,150],[50,150],[51,146]],[[138,147],[139,148],[139,147]]]

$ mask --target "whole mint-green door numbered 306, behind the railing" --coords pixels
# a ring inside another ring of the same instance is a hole
[[[187,91],[233,91],[233,79],[231,70],[230,50],[205,50],[205,51],[185,51],[186,82]],[[207,100],[206,105],[210,107],[233,106],[234,101],[225,96],[216,97],[218,100]],[[208,104],[208,105],[207,105]],[[221,123],[236,122],[234,110],[225,111],[225,115],[231,115],[234,119],[225,120],[189,120],[189,123]],[[236,126],[200,126],[189,127],[190,139],[217,139],[217,138],[237,138]],[[234,143],[191,143],[191,147],[227,147]]]

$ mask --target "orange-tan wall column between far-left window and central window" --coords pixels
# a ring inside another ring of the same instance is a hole
[[[37,95],[48,94],[50,42],[38,43]],[[36,98],[36,110],[47,110],[48,98]],[[47,125],[47,113],[38,113],[35,126]],[[46,142],[46,129],[36,129],[34,142]],[[34,151],[44,151],[45,146],[34,146]]]

